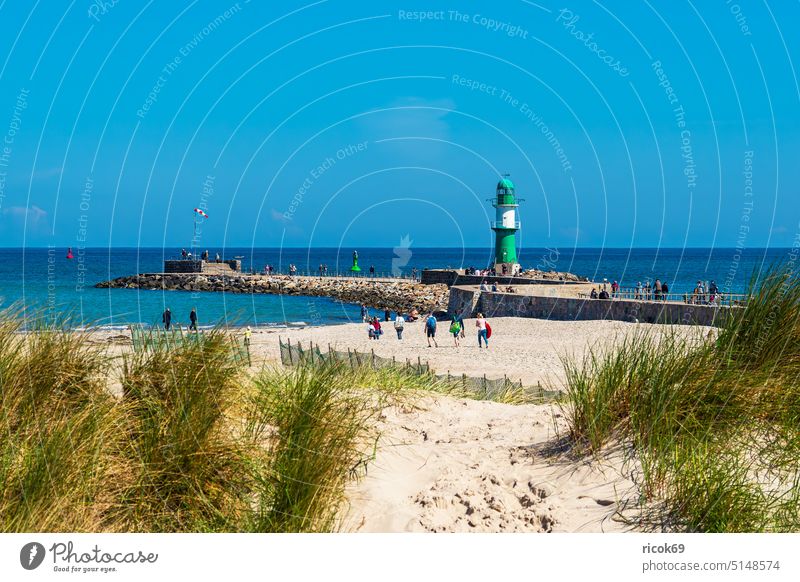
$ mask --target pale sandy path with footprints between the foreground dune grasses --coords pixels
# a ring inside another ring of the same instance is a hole
[[[428,397],[391,407],[365,477],[348,490],[356,532],[620,532],[638,489],[623,460],[561,455],[557,406]]]

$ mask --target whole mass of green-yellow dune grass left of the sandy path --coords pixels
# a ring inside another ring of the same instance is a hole
[[[398,368],[253,373],[233,350],[215,330],[119,361],[91,331],[0,313],[0,530],[336,530],[384,406],[476,396]]]

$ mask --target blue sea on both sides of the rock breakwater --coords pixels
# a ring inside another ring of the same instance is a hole
[[[177,258],[180,249],[87,248],[0,249],[0,305],[15,310],[68,314],[75,326],[124,327],[131,323],[158,323],[169,306],[178,322],[186,323],[196,307],[201,324],[319,325],[359,319],[358,306],[325,298],[232,293],[190,293],[135,289],[95,289],[95,283],[143,272],[161,272],[164,259]],[[290,263],[300,272],[316,274],[320,263],[328,272],[347,271],[351,249],[209,249],[213,257],[241,257],[243,268],[260,271],[273,265],[285,271]],[[359,264],[364,272],[410,274],[416,268],[474,266],[485,268],[492,258],[488,248],[364,248]],[[621,286],[635,286],[656,278],[667,281],[675,293],[690,292],[697,280],[715,280],[730,293],[742,292],[754,272],[789,259],[789,249],[522,249],[525,268],[569,271],[594,281],[604,278]]]

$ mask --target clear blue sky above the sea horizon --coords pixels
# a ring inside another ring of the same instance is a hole
[[[274,5],[274,6],[273,6]],[[790,246],[797,2],[3,2],[0,245]]]

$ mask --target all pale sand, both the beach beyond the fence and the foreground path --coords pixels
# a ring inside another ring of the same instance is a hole
[[[437,372],[521,379],[523,384],[563,389],[560,357],[581,357],[589,346],[610,346],[634,331],[656,335],[666,326],[613,321],[547,321],[493,318],[491,347],[479,349],[474,320],[454,347],[448,324],[439,323],[438,348],[428,348],[423,324],[406,324],[398,340],[391,323],[379,341],[366,325],[258,328],[253,330],[252,371],[279,361],[278,338],[313,341],[323,350],[375,350],[430,363]],[[707,328],[677,327],[704,337]],[[237,330],[235,333],[242,333]],[[106,337],[103,337],[103,334]],[[98,341],[114,351],[125,334],[103,332]],[[129,342],[127,342],[129,346]],[[558,532],[626,531],[624,518],[638,490],[626,474],[621,453],[580,459],[560,447],[567,434],[555,404],[509,405],[422,394],[387,407],[376,426],[380,439],[366,475],[348,487],[343,531]],[[621,517],[621,516],[624,516]]]

